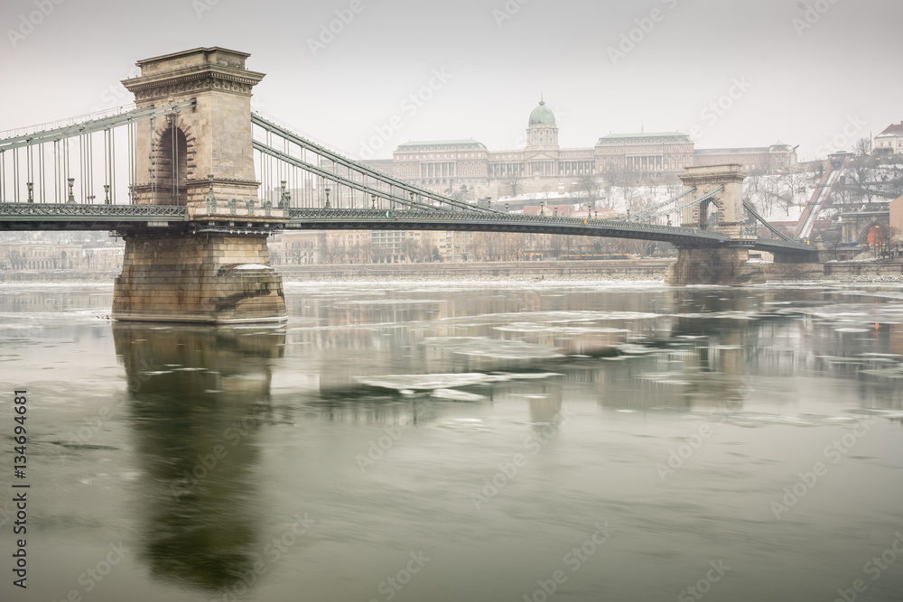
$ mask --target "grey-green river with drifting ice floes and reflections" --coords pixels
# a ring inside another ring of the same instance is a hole
[[[903,600],[899,284],[285,294],[218,329],[0,288],[0,599]]]

